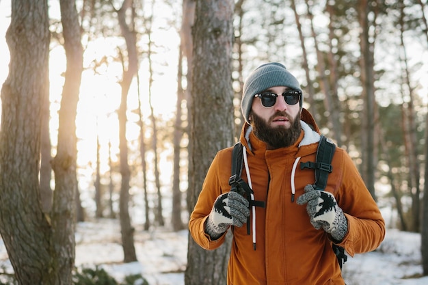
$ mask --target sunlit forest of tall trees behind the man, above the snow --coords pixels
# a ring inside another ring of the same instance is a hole
[[[239,135],[243,79],[264,62],[295,74],[393,226],[428,236],[426,1],[0,8],[0,233],[20,284],[71,280],[75,219],[119,218],[124,262],[136,259],[135,224],[185,228],[213,155]],[[224,278],[200,270],[224,252],[189,240],[186,284]]]

